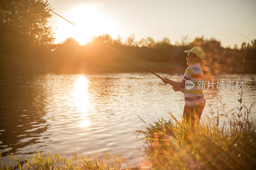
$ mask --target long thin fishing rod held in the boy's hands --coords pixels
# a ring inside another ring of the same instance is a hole
[[[41,6],[42,8],[45,8],[45,9],[47,9],[47,10],[49,10],[49,11],[51,11],[51,12],[53,12],[54,14],[56,14],[56,15],[58,15],[60,18],[63,18],[63,17],[61,17],[59,14],[57,14],[57,13],[55,13],[54,11],[52,11],[52,10],[50,10],[49,8],[47,8],[47,7],[45,7],[45,6],[42,6],[42,5],[40,5],[39,3],[37,3],[36,1],[34,1],[36,4],[38,4],[39,6]],[[69,20],[67,20],[66,18],[63,18],[63,19],[65,19],[66,21],[68,21],[70,24],[73,24],[72,22],[70,22]],[[76,26],[75,24],[73,24],[74,26]],[[93,36],[93,35],[92,35]],[[131,61],[133,61],[134,63],[136,63],[136,64],[138,64],[138,65],[140,65],[141,67],[143,67],[144,69],[146,69],[146,70],[148,70],[149,72],[151,72],[151,73],[153,73],[154,75],[156,75],[158,78],[161,78],[161,79],[163,79],[161,76],[159,76],[158,74],[156,74],[155,72],[153,72],[153,71],[151,71],[151,70],[149,70],[147,67],[145,67],[145,66],[143,66],[142,64],[140,64],[140,63],[138,63],[138,62],[136,62],[135,60],[133,60],[132,58],[130,58],[130,57],[128,57],[127,55],[125,55],[124,53],[122,53],[121,51],[119,51],[119,50],[117,50],[116,48],[114,48],[114,47],[112,47],[112,46],[110,46],[110,45],[108,45],[107,43],[105,43],[104,41],[101,41],[100,39],[98,39],[97,37],[95,37],[95,36],[93,36],[95,39],[97,39],[97,40],[99,40],[100,42],[102,42],[102,43],[104,43],[105,45],[107,45],[109,48],[112,48],[113,50],[115,50],[116,52],[118,52],[119,54],[121,54],[121,55],[123,55],[123,56],[125,56],[126,58],[128,58],[128,59],[130,59]],[[175,86],[173,86],[173,87],[175,87]],[[181,92],[183,92],[180,88],[178,88],[178,87],[175,87],[175,88],[177,88],[178,90],[180,90]]]

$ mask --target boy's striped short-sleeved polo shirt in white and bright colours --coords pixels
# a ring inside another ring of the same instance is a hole
[[[205,102],[202,82],[204,81],[204,73],[200,66],[200,63],[195,63],[192,66],[189,66],[184,74],[184,80],[192,81],[195,86],[186,90],[184,88],[184,98],[185,98],[185,106],[196,106]],[[198,82],[201,82],[198,84]]]

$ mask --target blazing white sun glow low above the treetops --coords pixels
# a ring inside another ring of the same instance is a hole
[[[92,5],[79,5],[68,11],[63,17],[76,26],[62,18],[56,19],[55,43],[63,42],[71,37],[76,39],[79,44],[84,45],[93,38],[92,35],[98,36],[103,33],[112,37],[118,35],[115,22]]]

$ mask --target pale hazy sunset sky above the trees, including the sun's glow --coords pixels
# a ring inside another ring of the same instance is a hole
[[[48,0],[53,11],[70,20],[72,26],[60,17],[52,16],[50,25],[56,32],[56,42],[68,37],[85,44],[91,35],[108,33],[112,38],[118,34],[125,40],[132,33],[135,39],[152,37],[155,41],[168,37],[171,43],[204,35],[215,37],[222,45],[239,46],[248,39],[256,38],[255,0],[215,1],[97,1],[97,0]],[[57,29],[56,29],[57,27]]]

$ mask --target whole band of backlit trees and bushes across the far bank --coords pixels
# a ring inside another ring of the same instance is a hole
[[[3,74],[9,73],[95,73],[145,71],[125,57],[94,39],[82,46],[72,38],[62,44],[54,41],[51,26],[52,16],[48,1],[3,0],[0,4],[0,56]],[[256,39],[243,42],[240,47],[223,47],[215,38],[198,36],[194,39],[183,36],[181,42],[171,43],[164,37],[155,41],[151,37],[135,41],[130,35],[124,41],[108,34],[98,38],[134,60],[156,72],[181,74],[187,68],[184,50],[200,47],[206,58],[202,62],[205,74],[241,73],[245,58],[244,73],[256,73]]]

